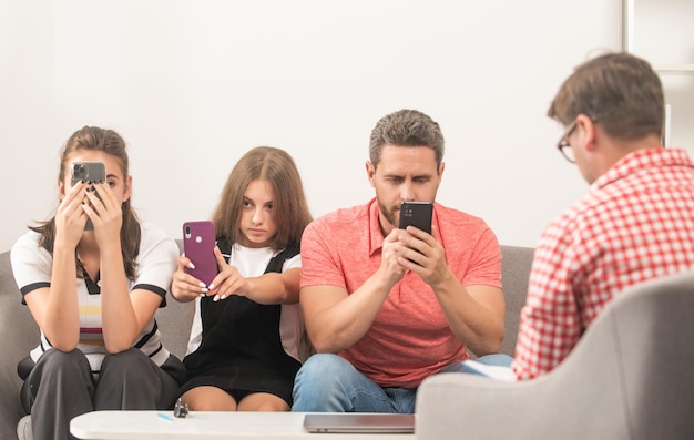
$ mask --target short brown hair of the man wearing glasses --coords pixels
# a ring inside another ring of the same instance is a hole
[[[564,125],[581,113],[615,139],[661,136],[663,85],[645,60],[625,52],[600,55],[575,68],[548,110]]]

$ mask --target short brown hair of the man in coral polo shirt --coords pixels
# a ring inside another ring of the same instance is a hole
[[[428,146],[433,150],[437,167],[443,161],[443,134],[439,124],[417,110],[399,110],[376,123],[369,147],[369,160],[374,166],[378,166],[385,144]]]

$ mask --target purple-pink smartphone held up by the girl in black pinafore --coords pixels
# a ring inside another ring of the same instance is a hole
[[[214,224],[210,221],[185,222],[183,224],[183,253],[195,265],[185,272],[207,286],[217,275],[217,260],[214,256]]]

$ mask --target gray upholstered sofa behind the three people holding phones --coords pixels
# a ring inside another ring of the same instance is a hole
[[[507,300],[506,334],[502,352],[513,356],[520,308],[525,303],[528,274],[533,249],[502,246],[502,276]],[[193,319],[193,304],[181,304],[169,298],[167,306],[157,311],[157,324],[164,345],[183,357]],[[39,341],[39,330],[21,295],[10,267],[10,253],[0,254],[0,439],[18,438],[18,423],[23,411],[19,402],[21,380],[17,362],[25,357]],[[20,439],[30,439],[28,418],[19,423]]]

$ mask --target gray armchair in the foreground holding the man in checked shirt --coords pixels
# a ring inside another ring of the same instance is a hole
[[[625,290],[550,374],[418,391],[417,439],[694,439],[694,270]]]

